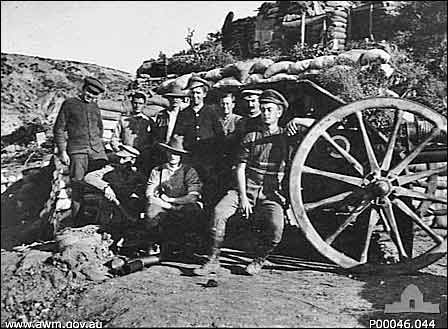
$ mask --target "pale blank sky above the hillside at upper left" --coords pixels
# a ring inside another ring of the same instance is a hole
[[[95,63],[132,74],[160,51],[187,49],[263,1],[2,1],[1,51]]]

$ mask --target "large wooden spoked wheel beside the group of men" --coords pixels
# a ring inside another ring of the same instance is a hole
[[[389,127],[380,134],[371,122],[379,112],[390,118]],[[413,149],[404,150],[400,139],[410,115],[431,128]],[[359,272],[413,272],[443,257],[446,231],[432,229],[412,204],[430,200],[446,205],[446,197],[413,189],[419,180],[446,175],[446,165],[418,173],[408,168],[434,139],[446,138],[446,130],[444,116],[399,98],[357,101],[322,118],[301,141],[291,166],[291,205],[307,240],[331,261]],[[332,157],[324,152],[329,149]],[[431,246],[413,252],[412,242],[407,241],[409,227],[411,239],[417,229]],[[398,261],[371,261],[378,230],[395,246]]]

